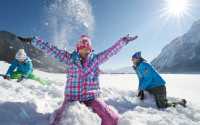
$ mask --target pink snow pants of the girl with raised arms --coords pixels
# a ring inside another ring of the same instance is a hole
[[[62,106],[55,112],[55,118],[51,125],[59,125],[62,114],[68,105],[69,101],[65,97]],[[101,125],[117,125],[119,115],[112,111],[108,105],[98,99],[81,102],[87,107],[91,107],[95,113],[101,118]]]

